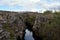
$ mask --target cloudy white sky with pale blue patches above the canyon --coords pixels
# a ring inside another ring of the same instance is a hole
[[[60,0],[0,0],[0,10],[37,12],[60,10]]]

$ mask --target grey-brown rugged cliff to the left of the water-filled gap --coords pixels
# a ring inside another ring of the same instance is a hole
[[[5,33],[5,36],[7,35],[7,38],[9,36],[9,40],[23,40],[26,26],[24,24],[22,16],[19,16],[18,13],[0,12],[0,23],[2,25],[1,27],[3,27],[0,31],[2,33]],[[3,30],[5,30],[6,32],[4,32]],[[2,33],[0,39],[5,40],[6,37]],[[2,36],[4,36],[5,38],[2,38]]]

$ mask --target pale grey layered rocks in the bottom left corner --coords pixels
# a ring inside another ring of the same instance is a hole
[[[10,40],[10,33],[5,31],[0,24],[0,40]]]

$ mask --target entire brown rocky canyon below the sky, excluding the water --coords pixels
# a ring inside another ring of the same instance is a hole
[[[26,29],[34,40],[60,40],[60,12],[0,11],[0,40],[25,40]]]

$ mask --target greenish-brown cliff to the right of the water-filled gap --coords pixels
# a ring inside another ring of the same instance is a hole
[[[33,26],[35,40],[60,40],[60,27],[57,16],[53,14],[38,15]]]

